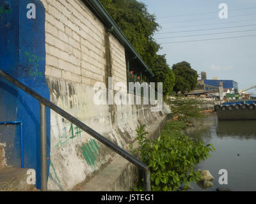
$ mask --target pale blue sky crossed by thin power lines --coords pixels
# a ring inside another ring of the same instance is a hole
[[[255,0],[141,2],[161,25],[154,38],[162,47],[159,54],[166,54],[170,66],[187,61],[198,73],[205,71],[207,79],[234,80],[239,89],[256,85]],[[219,17],[221,3],[227,4],[224,19]],[[216,38],[225,39],[209,40]]]

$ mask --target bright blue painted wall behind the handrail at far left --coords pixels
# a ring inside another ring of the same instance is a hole
[[[34,3],[36,18],[27,18],[27,5]],[[47,99],[45,81],[45,9],[39,0],[0,0],[0,69]],[[36,170],[40,188],[40,106],[36,99],[0,77],[0,121],[22,120],[24,168]],[[0,126],[0,142],[9,145],[9,165],[20,167],[20,130]],[[47,157],[50,157],[50,110],[47,108]],[[47,163],[49,173],[49,160]]]

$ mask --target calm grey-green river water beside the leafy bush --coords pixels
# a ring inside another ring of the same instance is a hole
[[[196,128],[188,129],[194,138],[212,143],[216,151],[196,165],[196,169],[209,170],[214,177],[213,187],[204,189],[193,183],[189,191],[216,191],[227,187],[231,191],[256,191],[256,120],[219,120],[215,113],[196,120]],[[228,172],[228,184],[221,185],[219,170]]]

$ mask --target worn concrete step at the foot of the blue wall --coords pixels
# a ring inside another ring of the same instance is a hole
[[[27,171],[13,167],[0,169],[0,191],[38,191],[35,185],[27,184]]]

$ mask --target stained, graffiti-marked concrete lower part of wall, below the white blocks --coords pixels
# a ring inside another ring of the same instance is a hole
[[[88,85],[52,77],[48,83],[53,103],[126,150],[134,141],[140,124],[147,124],[149,128],[163,114],[150,112],[149,105],[114,105],[113,108],[95,105],[93,88]],[[114,156],[108,147],[51,112],[49,189],[72,189]]]

